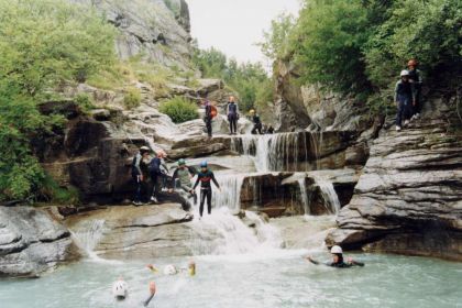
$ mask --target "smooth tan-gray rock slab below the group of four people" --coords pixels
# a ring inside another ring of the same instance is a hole
[[[78,238],[79,233],[85,233],[86,223],[92,220],[105,221],[95,246],[95,252],[105,258],[191,255],[194,239],[207,241],[191,222],[191,215],[179,205],[112,207],[72,217],[66,224]],[[209,240],[218,237],[209,234]]]

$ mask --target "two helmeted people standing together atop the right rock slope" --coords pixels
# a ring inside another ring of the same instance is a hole
[[[395,103],[397,107],[396,131],[399,132],[411,121],[418,120],[421,112],[422,76],[417,69],[417,59],[407,63],[407,69],[402,70],[400,80],[395,87]]]

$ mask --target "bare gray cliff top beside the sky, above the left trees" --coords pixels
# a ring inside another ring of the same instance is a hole
[[[144,54],[161,65],[189,67],[190,22],[184,0],[68,1],[94,6],[107,16],[120,31],[116,47],[121,58]]]

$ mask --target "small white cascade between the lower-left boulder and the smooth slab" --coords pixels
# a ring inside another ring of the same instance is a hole
[[[99,260],[95,249],[102,238],[105,230],[105,220],[97,219],[91,221],[84,221],[77,228],[77,231],[72,232],[75,243],[84,251],[90,258]]]

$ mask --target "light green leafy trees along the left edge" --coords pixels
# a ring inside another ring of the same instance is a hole
[[[114,31],[64,0],[0,0],[0,200],[34,197],[45,175],[30,141],[63,124],[37,105],[111,65]]]

